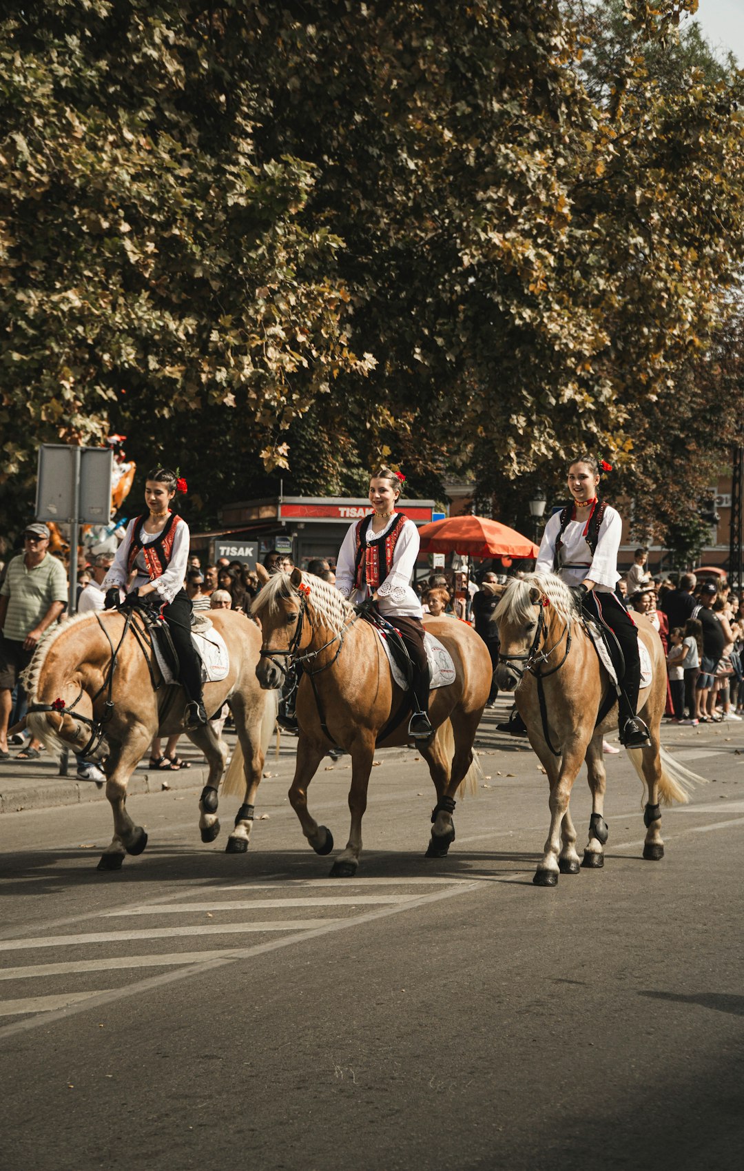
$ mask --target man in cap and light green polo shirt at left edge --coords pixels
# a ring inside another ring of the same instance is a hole
[[[67,604],[64,566],[48,553],[46,525],[27,525],[23,556],[13,557],[0,588],[0,760],[8,760],[8,720],[13,689],[32,660],[44,631]],[[34,742],[19,753],[22,760],[39,756]]]

